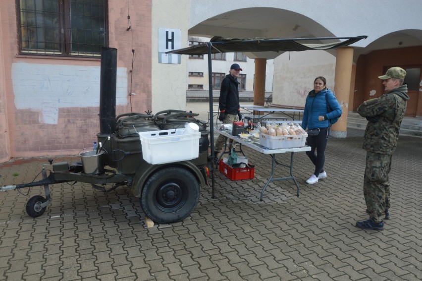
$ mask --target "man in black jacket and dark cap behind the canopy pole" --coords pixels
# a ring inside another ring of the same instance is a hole
[[[237,77],[239,76],[241,70],[242,68],[240,68],[239,64],[233,63],[230,66],[230,74],[227,74],[223,81],[221,81],[220,98],[218,101],[220,109],[218,120],[223,123],[231,124],[242,119],[239,106],[240,83],[237,81]],[[226,137],[219,135],[214,144],[215,158],[218,157],[218,154],[221,152],[225,142]]]

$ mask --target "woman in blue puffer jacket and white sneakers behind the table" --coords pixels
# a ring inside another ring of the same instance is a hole
[[[328,112],[327,100],[331,112]],[[302,128],[308,128],[306,145],[311,147],[311,150],[307,151],[306,154],[315,165],[315,172],[306,181],[307,183],[314,184],[318,182],[318,179],[327,177],[324,164],[325,148],[330,135],[331,124],[329,119],[340,117],[340,115],[341,107],[334,94],[327,88],[326,79],[318,76],[314,80],[314,90],[309,92],[306,98],[302,120]],[[316,132],[317,135],[311,135],[311,131]],[[317,154],[315,154],[315,150],[317,150]]]

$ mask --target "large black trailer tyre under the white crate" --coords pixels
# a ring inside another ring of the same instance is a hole
[[[147,217],[169,224],[188,217],[198,204],[199,194],[199,182],[190,171],[171,167],[147,180],[139,201]]]

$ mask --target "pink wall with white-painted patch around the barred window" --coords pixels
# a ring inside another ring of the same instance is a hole
[[[21,56],[15,0],[0,1],[0,18],[0,162],[92,147],[100,58]],[[116,114],[151,110],[151,26],[151,0],[108,0],[108,47],[118,55]]]

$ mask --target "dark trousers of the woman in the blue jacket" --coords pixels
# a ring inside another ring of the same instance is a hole
[[[319,173],[324,170],[325,164],[325,148],[327,147],[328,137],[330,135],[329,127],[319,128],[317,136],[309,136],[306,138],[306,145],[311,147],[310,151],[306,152],[309,159],[315,165],[314,174],[318,177]],[[317,154],[315,154],[317,150]]]

